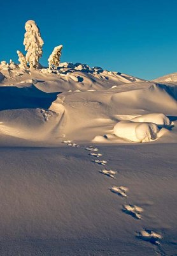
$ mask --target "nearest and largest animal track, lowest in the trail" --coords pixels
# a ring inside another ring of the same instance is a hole
[[[159,240],[162,239],[162,236],[160,234],[157,234],[156,232],[151,230],[141,230],[140,232],[138,232],[138,237],[143,239],[144,241],[148,241],[156,245],[159,245]]]

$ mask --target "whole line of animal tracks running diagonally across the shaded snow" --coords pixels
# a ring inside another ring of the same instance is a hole
[[[67,140],[67,141],[63,141],[64,143],[66,143],[67,146],[70,147],[81,147],[80,145],[73,143],[71,140]],[[93,147],[93,146],[85,146],[84,147],[85,150],[87,150],[88,152],[91,152],[90,154],[88,154],[88,156],[94,156],[94,157],[101,157],[103,156],[102,153],[97,153],[99,151],[98,148]],[[96,153],[95,153],[96,152]],[[106,160],[95,160],[92,159],[91,160],[94,163],[106,166],[106,164],[108,163]],[[108,178],[111,179],[116,179],[115,175],[117,175],[118,171],[115,170],[107,170],[106,167],[104,167],[103,170],[99,170],[99,173],[102,173],[103,175],[106,175]],[[138,205],[132,205],[129,204],[127,202],[127,198],[128,198],[128,191],[129,188],[125,187],[125,186],[111,186],[110,191],[112,193],[117,194],[118,196],[121,196],[122,199],[124,198],[125,203],[122,205],[122,212],[124,212],[125,214],[130,215],[134,220],[141,220],[143,219],[142,217],[142,213],[144,211],[144,209]],[[162,239],[162,236],[157,233],[154,232],[153,230],[149,230],[148,228],[144,228],[143,230],[141,230],[140,232],[136,232],[136,237],[138,239],[142,239],[143,241],[147,241],[149,243],[154,244],[155,246],[159,246],[157,248],[157,250],[155,250],[155,253],[157,253],[157,255],[160,256],[166,256],[166,253],[163,252],[163,249],[161,247],[160,244],[160,240]]]

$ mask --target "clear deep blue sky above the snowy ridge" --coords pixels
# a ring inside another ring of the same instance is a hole
[[[24,25],[35,20],[45,42],[41,64],[56,45],[61,61],[153,79],[177,72],[176,0],[1,1],[0,59],[24,52]]]

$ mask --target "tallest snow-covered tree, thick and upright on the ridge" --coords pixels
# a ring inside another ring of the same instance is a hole
[[[27,51],[25,60],[31,68],[38,68],[39,58],[43,54],[42,46],[44,44],[40,30],[34,20],[28,20],[25,23],[25,30],[24,45],[25,51]]]

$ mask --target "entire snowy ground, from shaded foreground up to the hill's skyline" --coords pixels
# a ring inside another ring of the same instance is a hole
[[[80,63],[0,81],[0,255],[176,255],[176,81]]]

